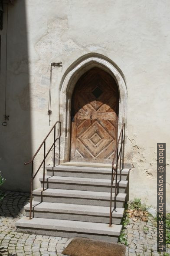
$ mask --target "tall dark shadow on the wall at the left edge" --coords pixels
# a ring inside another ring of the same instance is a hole
[[[28,41],[25,0],[3,5],[0,73],[0,171],[6,179],[3,189],[29,192],[31,168],[24,162],[31,156],[31,120],[29,95]],[[5,67],[7,33],[7,110],[5,115]]]

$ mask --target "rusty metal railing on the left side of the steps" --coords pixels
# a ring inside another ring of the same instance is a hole
[[[56,138],[56,125],[59,124],[59,136]],[[46,153],[46,139],[49,137],[49,135],[51,134],[52,130],[54,129],[54,142],[52,144],[52,146],[50,147],[49,151]],[[39,169],[41,168],[42,164],[43,164],[43,190],[44,190],[44,182],[45,182],[45,162],[46,162],[46,158],[49,155],[49,152],[52,150],[52,147],[54,152],[53,152],[53,166],[55,166],[55,154],[56,154],[56,141],[59,140],[59,159],[60,159],[60,137],[61,137],[61,122],[57,121],[52,129],[49,131],[48,135],[46,136],[46,138],[42,141],[41,145],[39,146],[38,150],[36,151],[35,155],[33,156],[33,158],[29,161],[26,162],[24,165],[28,165],[30,163],[32,163],[32,171],[31,171],[31,195],[30,195],[30,210],[29,210],[29,219],[31,219],[31,215],[32,215],[32,201],[33,201],[33,179],[36,177],[37,173],[39,172]],[[42,148],[42,146],[44,145],[44,158],[43,161],[41,162],[41,164],[39,165],[39,168],[37,169],[36,173],[33,175],[33,168],[34,168],[34,158],[36,157],[36,155],[38,154],[39,150]],[[59,163],[58,163],[59,164]]]

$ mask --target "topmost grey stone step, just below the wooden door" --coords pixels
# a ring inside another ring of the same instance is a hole
[[[81,166],[65,166],[58,165],[55,167],[46,167],[47,175],[50,176],[66,176],[66,177],[80,177],[80,178],[97,178],[111,180],[111,168],[94,168]],[[129,169],[118,171],[119,180],[127,180]]]

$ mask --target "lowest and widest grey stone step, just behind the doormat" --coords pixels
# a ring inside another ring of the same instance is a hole
[[[87,237],[117,243],[122,225],[84,222],[62,219],[45,219],[23,217],[15,223],[18,232],[35,233],[47,236]]]

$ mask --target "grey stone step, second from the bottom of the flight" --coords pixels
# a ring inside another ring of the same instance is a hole
[[[27,217],[29,207],[30,204],[24,207]],[[36,218],[109,223],[110,207],[33,201],[32,210],[32,217]],[[121,224],[123,212],[124,208],[113,208],[113,224]]]

